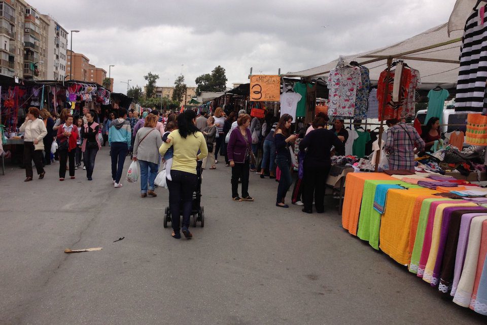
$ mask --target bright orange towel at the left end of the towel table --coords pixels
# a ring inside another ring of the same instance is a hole
[[[345,198],[341,211],[341,224],[354,236],[357,236],[360,205],[364,191],[365,180],[395,180],[384,173],[349,173],[345,179]]]

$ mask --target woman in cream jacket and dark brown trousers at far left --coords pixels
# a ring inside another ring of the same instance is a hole
[[[39,179],[43,179],[46,172],[42,166],[42,150],[44,150],[43,139],[47,136],[46,125],[44,121],[39,118],[39,109],[30,107],[25,121],[20,125],[20,132],[24,133],[24,165],[25,165],[25,180],[28,182],[32,180],[32,159],[36,165]],[[47,148],[45,150],[51,150]]]

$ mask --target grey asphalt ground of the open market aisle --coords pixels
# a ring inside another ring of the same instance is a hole
[[[203,173],[204,228],[175,240],[167,190],[114,188],[107,148],[92,182],[58,167],[0,175],[2,325],[487,323],[345,232],[333,199],[325,214],[277,208],[277,183],[251,175],[256,201],[233,202],[220,163]],[[103,250],[64,253],[89,247]]]

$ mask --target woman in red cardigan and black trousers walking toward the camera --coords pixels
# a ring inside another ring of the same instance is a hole
[[[76,140],[79,138],[78,127],[73,125],[73,115],[66,116],[66,122],[57,129],[57,144],[59,146],[59,180],[66,175],[66,163],[69,158],[69,176],[75,179]]]

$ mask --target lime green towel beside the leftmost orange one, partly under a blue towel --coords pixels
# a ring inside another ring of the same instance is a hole
[[[359,229],[357,236],[368,241],[370,246],[379,249],[380,214],[374,209],[375,188],[378,184],[398,184],[408,188],[421,186],[404,183],[400,180],[366,180],[362,194],[362,205],[360,206]]]

